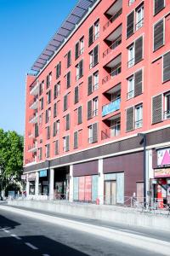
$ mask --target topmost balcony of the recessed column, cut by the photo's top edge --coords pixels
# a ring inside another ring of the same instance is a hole
[[[108,18],[108,21],[103,26],[103,31],[107,29],[107,27],[111,26],[111,24],[122,15],[122,0],[117,0],[110,9],[105,12],[105,16]]]

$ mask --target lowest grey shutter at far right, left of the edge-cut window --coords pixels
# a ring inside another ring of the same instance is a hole
[[[152,124],[162,120],[162,96],[161,94],[152,98]]]

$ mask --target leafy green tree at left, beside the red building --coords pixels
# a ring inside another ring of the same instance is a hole
[[[0,185],[6,189],[9,183],[19,181],[23,170],[24,139],[16,131],[0,129]]]

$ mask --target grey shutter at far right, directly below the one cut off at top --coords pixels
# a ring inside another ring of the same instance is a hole
[[[160,20],[154,26],[154,50],[159,49],[164,41],[164,25],[163,20]]]

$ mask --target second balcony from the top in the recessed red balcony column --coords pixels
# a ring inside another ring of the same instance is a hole
[[[113,50],[116,49],[117,46],[121,43],[122,43],[122,25],[116,28],[116,30],[112,32],[111,35],[109,35],[109,37],[105,38],[105,44],[107,44],[109,47],[103,53],[103,58],[105,58],[106,55],[111,54]]]

